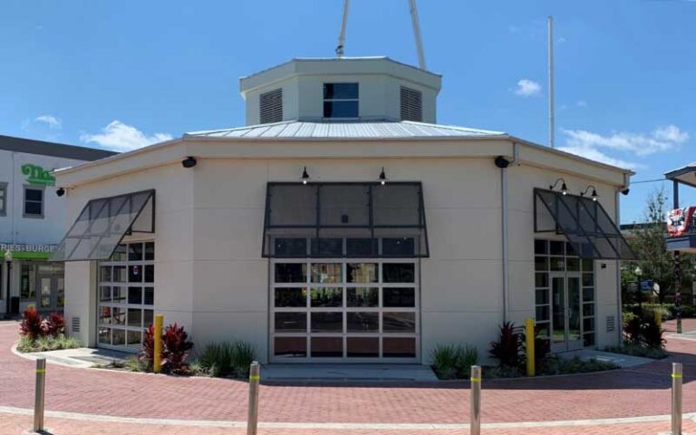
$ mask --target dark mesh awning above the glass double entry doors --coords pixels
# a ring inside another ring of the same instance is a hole
[[[598,201],[535,189],[536,232],[563,234],[585,258],[635,259],[635,254]]]

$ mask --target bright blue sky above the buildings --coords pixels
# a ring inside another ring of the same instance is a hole
[[[129,149],[244,124],[238,77],[333,56],[341,0],[0,6],[0,134]],[[345,53],[416,63],[406,0],[353,0]],[[547,142],[546,16],[556,20],[556,145],[659,179],[696,160],[696,2],[419,2],[438,121]],[[635,184],[641,220],[663,182]],[[580,189],[581,187],[571,187]],[[696,203],[682,188],[682,202]]]

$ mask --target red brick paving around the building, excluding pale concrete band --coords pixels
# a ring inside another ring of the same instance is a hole
[[[671,323],[665,326],[672,328]],[[686,319],[684,330],[690,329],[696,329],[696,321]],[[15,338],[16,327],[0,326],[0,405],[31,408],[34,362],[10,352]],[[668,348],[677,352],[672,360],[685,364],[684,411],[696,411],[696,382],[689,382],[689,379],[696,378],[696,341],[672,340]],[[631,371],[484,382],[483,420],[587,420],[667,414],[670,411],[670,361],[652,362]],[[51,411],[182,420],[246,420],[247,416],[245,382],[71,369],[55,365],[49,366],[47,376],[46,408]],[[460,423],[468,420],[468,411],[469,390],[464,382],[365,386],[263,385],[259,420]],[[13,416],[5,419],[5,416],[2,424],[24,418]],[[82,433],[77,431],[80,430],[77,426],[82,426],[82,423],[75,424],[73,421],[72,424],[75,429],[69,433]],[[650,424],[664,430],[663,424]],[[168,428],[167,433],[179,433],[174,428]],[[601,433],[623,433],[619,426],[606,428],[612,429]],[[561,428],[548,429],[550,431],[537,429],[533,433],[594,433],[592,428],[576,428],[575,432],[562,431]],[[121,433],[118,428],[113,430],[109,433]],[[136,433],[150,433],[147,430],[151,428],[144,427]],[[301,432],[312,433],[307,430]],[[122,433],[131,432],[126,430]],[[180,433],[196,432],[188,428]],[[217,432],[206,429],[206,433]],[[225,433],[236,432],[226,430]],[[341,433],[350,432],[342,430]],[[370,433],[379,432],[371,430]],[[427,433],[438,432],[428,430]],[[532,432],[487,430],[487,433]],[[643,433],[652,433],[652,430]]]

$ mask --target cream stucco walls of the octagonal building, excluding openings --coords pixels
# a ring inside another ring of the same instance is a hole
[[[288,145],[290,146],[290,145]],[[268,181],[421,181],[430,258],[420,262],[421,356],[438,343],[478,346],[483,358],[502,321],[501,178],[492,158],[208,159],[193,169],[179,162],[104,179],[69,192],[69,223],[90,198],[157,189],[155,307],[165,322],[187,326],[205,343],[240,338],[267,361],[268,262],[261,257]],[[614,188],[526,164],[508,169],[510,317],[534,315],[533,189],[564,177],[572,193],[594,184],[614,215]],[[546,237],[546,236],[545,236]],[[606,267],[602,268],[601,263]],[[66,273],[66,314],[85,315],[93,284],[78,265]],[[606,315],[616,312],[615,262],[597,262],[597,342]],[[93,279],[92,279],[93,283]],[[88,288],[89,287],[89,288]],[[88,310],[89,311],[89,310]],[[93,344],[93,326],[89,343]]]

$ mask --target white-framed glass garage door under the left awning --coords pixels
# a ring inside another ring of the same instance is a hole
[[[109,260],[99,262],[97,345],[137,352],[142,333],[153,323],[155,244],[120,244]]]

